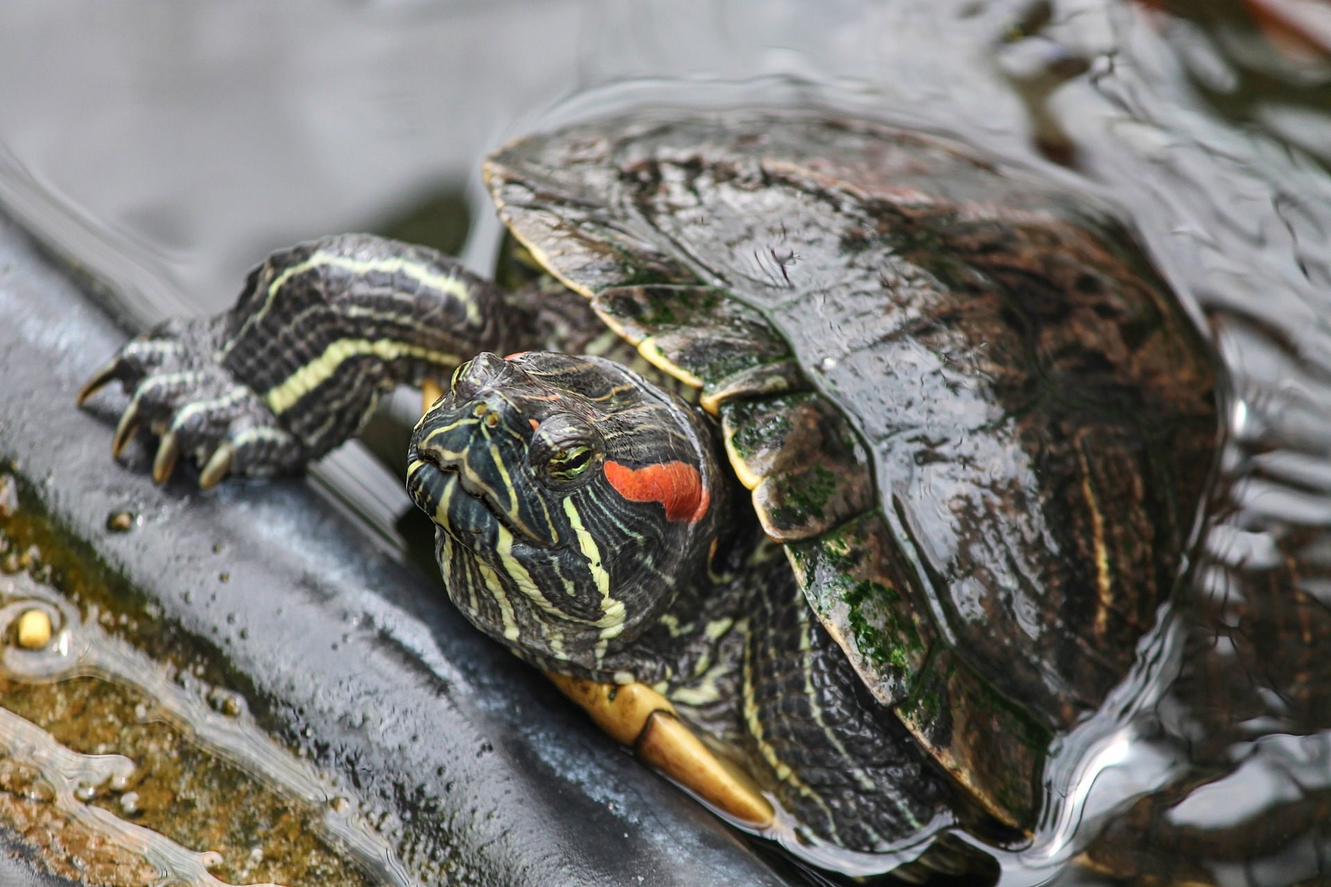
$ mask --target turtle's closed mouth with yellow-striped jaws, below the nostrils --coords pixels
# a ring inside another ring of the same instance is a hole
[[[511,520],[484,488],[467,476],[465,465],[445,461],[426,449],[415,453],[407,469],[407,493],[437,527],[473,551],[478,551],[479,540],[492,537],[500,527],[515,539],[548,547],[547,540]],[[465,497],[461,501],[459,495]],[[465,507],[471,503],[480,508]]]

